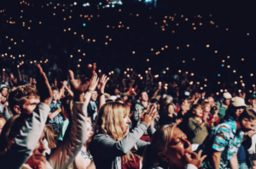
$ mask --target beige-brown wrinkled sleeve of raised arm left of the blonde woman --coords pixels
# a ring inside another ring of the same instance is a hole
[[[65,134],[55,151],[49,156],[49,164],[55,169],[66,169],[78,155],[86,139],[87,107],[85,102],[73,104],[73,116],[70,118],[70,131]]]

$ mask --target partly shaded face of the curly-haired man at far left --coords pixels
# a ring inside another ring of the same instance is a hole
[[[36,98],[35,96],[26,99],[25,104],[23,104],[22,110],[20,109],[21,113],[32,114],[33,110],[36,109],[38,103],[40,103],[40,99]]]

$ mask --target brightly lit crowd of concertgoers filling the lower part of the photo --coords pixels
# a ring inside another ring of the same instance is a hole
[[[195,92],[177,99],[161,85],[151,96],[119,87],[110,95],[109,78],[98,77],[96,64],[79,79],[69,70],[59,89],[36,69],[30,84],[1,85],[1,168],[256,166],[255,95],[226,92],[214,100]]]

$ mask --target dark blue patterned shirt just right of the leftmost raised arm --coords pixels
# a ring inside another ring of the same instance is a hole
[[[55,104],[54,102],[51,102],[49,108],[50,108],[49,112],[51,113],[57,110],[58,108],[61,108],[61,101],[57,101],[57,104]],[[49,124],[52,125],[55,132],[59,132],[61,123],[63,121],[64,121],[64,116],[62,115],[62,113],[59,113],[57,116],[55,116],[55,118],[53,118],[52,120],[49,120]]]

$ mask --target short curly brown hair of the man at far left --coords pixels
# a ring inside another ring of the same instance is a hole
[[[32,96],[38,99],[40,98],[37,88],[33,85],[22,85],[12,89],[9,93],[8,99],[9,109],[14,115],[17,115],[14,110],[15,105],[19,105],[21,107],[23,104],[25,104],[26,99],[29,99]]]

